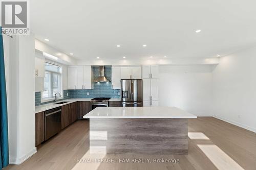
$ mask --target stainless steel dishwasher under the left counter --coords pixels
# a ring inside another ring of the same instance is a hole
[[[61,130],[61,107],[45,111],[45,140]]]

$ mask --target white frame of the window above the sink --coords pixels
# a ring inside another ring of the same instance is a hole
[[[60,94],[61,96],[59,97],[59,95],[57,96],[57,100],[59,99],[63,99],[63,88],[62,88],[62,84],[63,84],[63,72],[62,72],[62,65],[59,64],[59,63],[55,63],[53,61],[49,61],[49,60],[46,60],[45,63],[49,63],[49,64],[53,64],[53,65],[56,65],[56,66],[59,66],[61,68],[61,72],[54,72],[54,71],[48,71],[48,70],[45,70],[45,72],[51,72],[51,73],[56,73],[56,74],[60,74]],[[51,78],[52,79],[52,78]],[[52,84],[52,82],[51,82]],[[41,103],[44,103],[44,102],[50,102],[50,101],[54,101],[54,96],[52,96],[51,98],[42,98],[42,93],[41,93]]]

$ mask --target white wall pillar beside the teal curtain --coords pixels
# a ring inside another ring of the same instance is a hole
[[[20,164],[36,152],[34,35],[14,36],[9,50],[9,153]]]

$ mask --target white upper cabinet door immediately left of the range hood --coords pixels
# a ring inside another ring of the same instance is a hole
[[[90,65],[84,66],[83,89],[93,89],[93,70]]]

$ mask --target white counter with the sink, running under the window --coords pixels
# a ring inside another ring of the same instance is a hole
[[[43,112],[49,109],[53,109],[56,107],[60,107],[63,105],[67,105],[73,102],[78,102],[78,101],[91,101],[91,99],[93,98],[71,98],[71,99],[67,99],[67,100],[62,100],[62,101],[57,101],[58,102],[68,102],[68,103],[64,103],[64,104],[59,104],[59,105],[55,105],[54,102],[53,103],[49,103],[49,104],[45,104],[45,105],[39,105],[35,107],[35,113],[39,113],[39,112]]]

